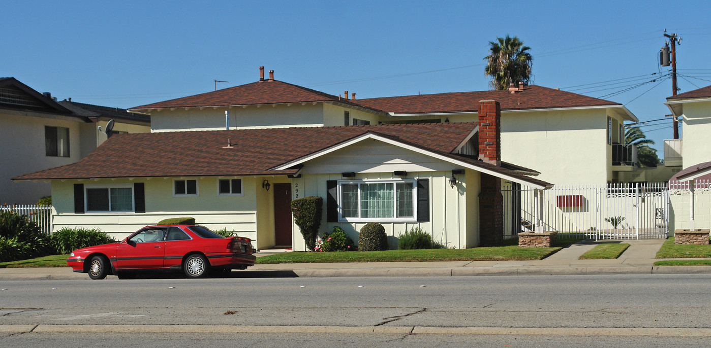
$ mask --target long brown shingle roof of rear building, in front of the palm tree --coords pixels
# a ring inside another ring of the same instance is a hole
[[[621,105],[609,100],[537,85],[526,86],[523,91],[513,94],[508,91],[454,92],[358,99],[353,102],[364,107],[394,112],[395,114],[427,114],[434,112],[476,112],[479,107],[479,101],[486,99],[498,101],[502,110]]]

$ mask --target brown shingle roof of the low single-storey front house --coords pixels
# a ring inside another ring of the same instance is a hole
[[[294,174],[296,169],[269,168],[374,132],[481,168],[546,184],[476,158],[452,155],[475,127],[476,123],[465,122],[117,134],[77,163],[14,180]],[[228,138],[232,148],[224,148]]]

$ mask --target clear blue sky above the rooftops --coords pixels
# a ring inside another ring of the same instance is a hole
[[[711,85],[708,1],[3,1],[0,76],[59,99],[135,107],[277,80],[359,99],[488,89],[488,42],[531,47],[534,83],[604,99],[641,121],[671,95],[663,29],[678,33],[680,92]],[[705,70],[704,70],[705,69]],[[661,74],[660,74],[661,72]],[[656,75],[653,75],[657,73]],[[629,77],[629,79],[628,79]],[[609,81],[609,82],[606,82]],[[582,86],[581,86],[582,85]],[[656,87],[655,87],[656,86]],[[670,121],[643,128],[661,150]],[[660,152],[661,155],[661,152]]]

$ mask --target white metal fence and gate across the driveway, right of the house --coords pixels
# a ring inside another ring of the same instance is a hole
[[[504,237],[535,229],[535,190],[502,187]],[[556,185],[540,191],[543,231],[587,239],[666,238],[669,196],[665,183]]]

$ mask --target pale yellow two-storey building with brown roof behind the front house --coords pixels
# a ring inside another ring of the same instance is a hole
[[[477,121],[479,101],[501,103],[501,156],[556,184],[604,184],[637,170],[624,146],[624,105],[540,86],[355,99],[262,77],[258,82],[134,107],[158,131]]]

